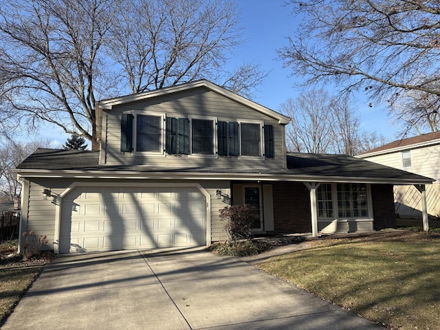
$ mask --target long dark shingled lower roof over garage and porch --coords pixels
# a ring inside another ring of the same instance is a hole
[[[292,153],[287,169],[99,165],[98,151],[37,149],[15,170],[22,177],[230,179],[431,184],[433,179],[349,155]]]

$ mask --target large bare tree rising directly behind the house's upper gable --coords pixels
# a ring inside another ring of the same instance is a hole
[[[223,69],[240,35],[229,0],[125,1],[109,34],[109,55],[131,93],[206,78],[249,96],[265,76],[258,65]]]

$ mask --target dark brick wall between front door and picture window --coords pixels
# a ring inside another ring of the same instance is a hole
[[[274,182],[274,232],[311,232],[310,194],[302,182]]]

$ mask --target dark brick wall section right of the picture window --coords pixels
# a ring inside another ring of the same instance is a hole
[[[372,184],[374,230],[396,228],[392,184]]]

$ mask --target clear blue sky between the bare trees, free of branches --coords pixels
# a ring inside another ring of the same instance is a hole
[[[236,51],[236,65],[243,61],[255,61],[260,63],[261,69],[270,71],[254,101],[279,111],[287,98],[296,98],[300,94],[294,84],[301,77],[289,76],[289,69],[283,68],[283,63],[276,60],[276,49],[288,44],[286,37],[294,35],[298,21],[290,14],[290,8],[284,5],[285,0],[237,0],[237,3],[242,10],[244,39],[247,42]],[[333,93],[332,90],[330,92]],[[369,101],[364,96],[359,98],[363,100],[357,102],[355,108],[361,118],[362,131],[375,131],[387,140],[396,140],[398,131],[387,117],[386,108],[380,104],[369,107]]]

